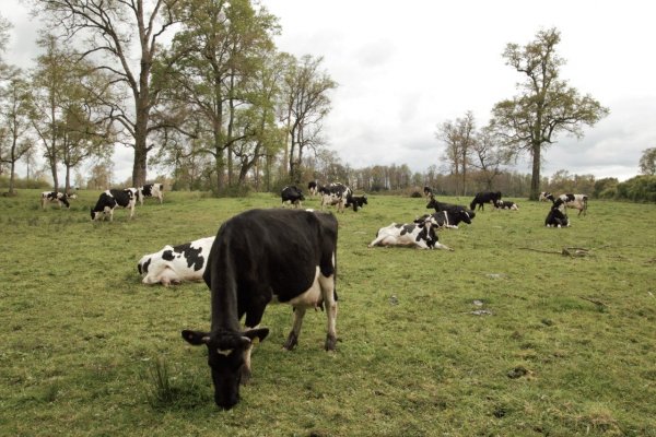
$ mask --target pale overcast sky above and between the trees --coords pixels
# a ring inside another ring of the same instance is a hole
[[[504,64],[506,44],[540,29],[561,32],[562,78],[610,115],[576,140],[543,153],[543,176],[559,169],[625,180],[642,151],[656,146],[656,26],[649,1],[262,0],[280,19],[278,48],[324,58],[339,84],[325,121],[329,147],[353,168],[443,166],[437,126],[471,110],[487,125],[495,103],[523,78]],[[14,23],[9,61],[30,64],[37,25],[19,0],[2,0]],[[116,155],[116,180],[131,174],[130,150]],[[516,169],[530,173],[526,163]],[[150,176],[154,176],[150,172]]]

